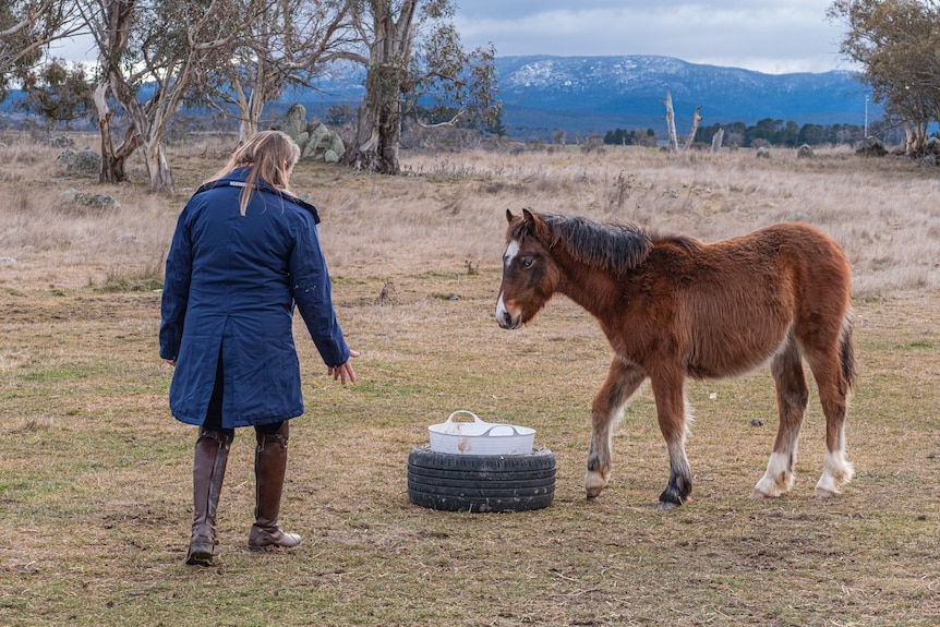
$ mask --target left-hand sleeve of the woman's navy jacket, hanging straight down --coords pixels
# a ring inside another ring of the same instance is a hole
[[[167,253],[164,290],[160,299],[160,358],[177,359],[183,337],[183,321],[190,298],[193,269],[192,241],[186,225],[189,205],[177,220],[177,229]]]

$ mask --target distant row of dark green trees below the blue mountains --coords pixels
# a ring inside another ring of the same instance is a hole
[[[804,124],[800,126],[792,120],[784,122],[783,120],[764,118],[751,126],[744,122],[699,126],[694,144],[710,146],[720,130],[724,131],[723,146],[756,148],[761,146],[852,145],[864,140],[866,135],[866,129],[858,124]],[[878,135],[885,143],[901,142],[904,138],[903,131],[889,129],[881,121],[873,123],[868,129],[868,135]],[[608,145],[650,146],[655,145],[658,141],[659,137],[652,129],[632,131],[614,129],[604,134],[604,144]]]

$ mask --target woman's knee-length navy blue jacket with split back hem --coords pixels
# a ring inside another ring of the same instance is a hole
[[[263,184],[240,215],[248,173],[240,168],[197,190],[167,254],[160,357],[177,360],[170,410],[189,424],[205,421],[219,359],[224,429],[303,413],[294,304],[326,365],[349,359],[316,209]]]

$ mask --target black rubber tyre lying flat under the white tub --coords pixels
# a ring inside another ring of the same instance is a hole
[[[457,455],[415,446],[408,456],[411,503],[445,511],[527,511],[552,505],[555,456]]]

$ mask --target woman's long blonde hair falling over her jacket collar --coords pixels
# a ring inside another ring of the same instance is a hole
[[[293,194],[288,184],[288,173],[298,159],[300,148],[290,135],[282,131],[261,131],[236,148],[225,167],[206,182],[217,181],[238,168],[251,166],[239,198],[239,210],[245,215],[251,195],[260,181]]]

